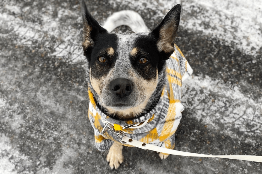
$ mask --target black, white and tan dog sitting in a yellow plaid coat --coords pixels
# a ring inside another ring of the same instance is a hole
[[[181,6],[174,6],[151,32],[134,11],[120,11],[102,27],[82,1],[83,51],[88,62],[88,116],[98,150],[109,149],[111,169],[123,162],[123,145],[107,131],[114,125],[128,137],[174,149],[174,133],[184,107],[182,82],[192,69],[174,44]],[[133,33],[109,33],[128,25]],[[126,145],[126,144],[124,144]],[[168,154],[159,153],[161,159]]]

